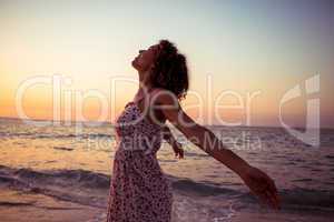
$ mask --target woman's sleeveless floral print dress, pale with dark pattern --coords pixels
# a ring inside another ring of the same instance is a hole
[[[107,222],[170,222],[171,186],[156,157],[161,125],[144,118],[134,101],[116,122]]]

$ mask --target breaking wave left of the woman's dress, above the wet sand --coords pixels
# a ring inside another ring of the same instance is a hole
[[[104,209],[109,178],[85,170],[33,171],[0,165],[0,188]]]

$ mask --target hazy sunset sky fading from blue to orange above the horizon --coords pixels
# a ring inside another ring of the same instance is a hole
[[[331,0],[0,0],[0,117],[18,117],[16,95],[27,79],[59,74],[71,80],[59,92],[61,119],[98,120],[107,102],[108,117],[99,120],[112,121],[137,90],[130,63],[138,50],[168,39],[187,57],[190,90],[183,105],[196,121],[222,123],[214,103],[229,90],[219,101],[234,105],[219,110],[225,122],[279,125],[279,101],[299,84],[302,95],[283,107],[285,122],[304,125],[307,99],[320,98],[321,127],[334,127]],[[320,92],[307,95],[305,80],[315,74]],[[127,80],[112,88],[119,77]],[[51,84],[23,92],[29,118],[53,117]],[[76,93],[85,92],[105,98],[90,94],[78,118]],[[256,95],[249,101],[247,94]]]

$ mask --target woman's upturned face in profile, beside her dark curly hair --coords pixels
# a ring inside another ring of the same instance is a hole
[[[156,58],[158,47],[158,44],[154,44],[147,50],[139,50],[139,54],[132,61],[132,67],[139,72],[149,70]]]

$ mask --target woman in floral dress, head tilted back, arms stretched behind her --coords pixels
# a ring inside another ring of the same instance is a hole
[[[139,89],[116,121],[118,135],[108,204],[108,222],[170,222],[173,194],[156,158],[161,139],[183,150],[165,125],[168,120],[186,138],[236,172],[259,200],[279,209],[274,181],[249,165],[207,128],[197,124],[181,109],[188,90],[186,58],[168,40],[140,50],[132,61]]]

